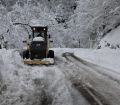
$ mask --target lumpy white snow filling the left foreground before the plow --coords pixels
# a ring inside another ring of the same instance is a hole
[[[59,67],[24,65],[15,50],[0,50],[0,76],[0,105],[88,105]]]

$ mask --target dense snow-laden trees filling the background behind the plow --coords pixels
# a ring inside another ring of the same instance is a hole
[[[20,48],[37,21],[49,27],[54,47],[96,47],[120,25],[120,0],[0,0],[0,36]]]

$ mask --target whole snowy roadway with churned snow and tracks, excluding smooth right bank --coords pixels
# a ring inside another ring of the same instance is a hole
[[[69,52],[69,53],[66,53]],[[0,51],[0,105],[119,105],[120,74],[55,50],[55,65],[28,66]]]

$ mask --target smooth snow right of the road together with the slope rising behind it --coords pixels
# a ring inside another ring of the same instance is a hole
[[[120,27],[108,33],[99,50],[78,49],[74,54],[84,60],[120,72]]]

